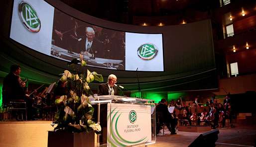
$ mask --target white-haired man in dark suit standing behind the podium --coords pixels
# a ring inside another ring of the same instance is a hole
[[[115,95],[118,96],[118,87],[115,86],[117,83],[117,76],[114,74],[109,75],[108,83],[99,85],[98,95]]]

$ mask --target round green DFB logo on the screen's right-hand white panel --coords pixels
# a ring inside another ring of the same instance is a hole
[[[137,49],[138,56],[143,60],[151,60],[157,55],[158,49],[154,44],[147,43],[139,46]]]

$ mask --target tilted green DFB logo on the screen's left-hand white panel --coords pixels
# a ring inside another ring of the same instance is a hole
[[[41,29],[41,22],[35,9],[26,1],[21,1],[18,5],[19,17],[25,28],[33,33],[37,33]]]

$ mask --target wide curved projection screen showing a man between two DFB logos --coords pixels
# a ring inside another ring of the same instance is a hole
[[[92,25],[43,0],[14,0],[10,38],[65,61],[82,54],[93,67],[164,71],[161,33],[131,33]]]

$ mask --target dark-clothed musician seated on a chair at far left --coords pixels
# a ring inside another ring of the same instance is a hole
[[[9,74],[3,80],[2,103],[8,104],[10,101],[26,102],[27,119],[32,119],[32,100],[25,95],[26,83],[20,79],[21,68],[19,65],[11,65]],[[16,120],[22,121],[21,113],[17,114]],[[33,119],[32,119],[33,120]]]

